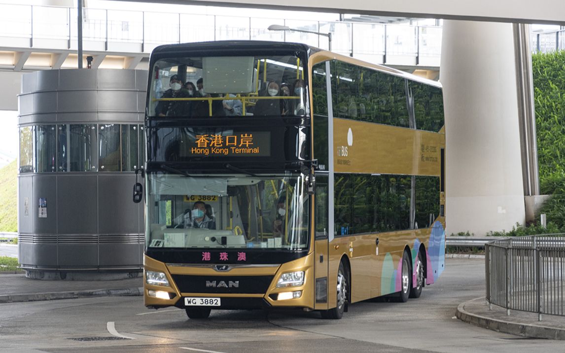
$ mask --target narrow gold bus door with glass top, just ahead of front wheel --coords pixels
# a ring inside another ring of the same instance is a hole
[[[316,173],[314,194],[314,274],[316,310],[328,309],[328,175]]]

